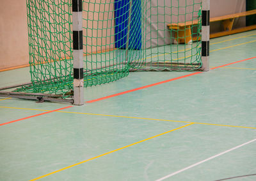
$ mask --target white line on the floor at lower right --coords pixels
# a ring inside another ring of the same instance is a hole
[[[232,150],[236,150],[237,148],[240,148],[240,147],[242,147],[242,146],[244,146],[244,145],[248,145],[249,143],[252,143],[253,141],[256,141],[256,139],[253,139],[253,140],[251,140],[251,141],[248,141],[248,142],[246,142],[246,143],[243,143],[242,145],[239,145],[239,146],[236,146],[236,147],[234,147],[234,148],[231,148],[230,150],[227,150],[227,151],[225,151],[225,152],[218,153],[217,155],[214,155],[214,156],[212,156],[212,157],[209,157],[208,159],[205,159],[204,161],[200,161],[200,162],[197,162],[197,163],[195,163],[195,164],[191,164],[191,166],[188,166],[188,167],[186,167],[186,168],[180,169],[179,171],[175,171],[175,172],[171,173],[170,175],[166,175],[165,177],[162,177],[162,178],[157,179],[156,181],[161,181],[161,180],[164,180],[164,179],[166,179],[166,178],[170,178],[170,177],[172,177],[173,175],[176,175],[176,174],[178,174],[178,173],[180,173],[180,172],[182,172],[182,171],[185,171],[185,170],[187,170],[187,169],[189,169],[189,168],[193,168],[193,167],[195,167],[195,166],[198,166],[198,164],[202,164],[203,162],[207,162],[207,161],[209,161],[209,160],[211,160],[211,159],[214,159],[214,158],[216,158],[216,157],[219,157],[219,156],[221,156],[221,155],[223,155],[223,154],[225,154],[225,153],[231,152]]]

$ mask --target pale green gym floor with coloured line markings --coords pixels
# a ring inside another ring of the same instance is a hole
[[[86,88],[84,106],[0,98],[0,180],[256,180],[256,31],[212,39],[210,59]]]

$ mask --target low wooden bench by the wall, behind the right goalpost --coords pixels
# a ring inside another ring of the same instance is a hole
[[[210,35],[210,38],[216,38],[220,36],[225,36],[225,35],[232,35],[234,33],[240,33],[243,31],[249,31],[252,29],[256,29],[256,25],[252,26],[246,26],[243,28],[237,28],[237,29],[232,29],[234,20],[238,17],[245,17],[248,15],[255,15],[256,10],[250,10],[248,12],[242,12],[242,13],[235,13],[232,15],[225,15],[221,17],[213,17],[210,19],[210,22],[217,22],[217,21],[222,21],[223,28],[225,31],[221,31],[218,33],[212,33]],[[175,43],[190,43],[193,40],[196,40],[197,37],[192,37],[191,35],[191,28],[193,26],[197,26],[198,21],[193,20],[193,21],[188,21],[186,23],[180,22],[180,23],[172,23],[172,24],[167,24],[169,29],[176,29],[175,31]]]

